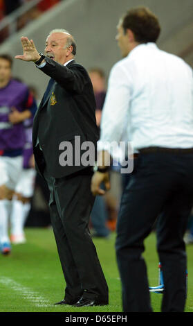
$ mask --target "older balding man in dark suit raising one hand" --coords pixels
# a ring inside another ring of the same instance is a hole
[[[80,148],[84,141],[91,141],[95,148],[98,140],[91,80],[74,60],[76,44],[67,31],[50,32],[45,55],[38,53],[28,37],[21,37],[21,44],[24,54],[15,58],[35,62],[50,76],[34,120],[33,146],[37,171],[50,189],[50,217],[66,280],[64,300],[57,304],[108,304],[107,282],[88,228],[94,203],[90,190],[93,172],[82,160],[80,164],[74,160],[75,136],[79,136]],[[71,145],[68,164],[61,153],[66,141]]]

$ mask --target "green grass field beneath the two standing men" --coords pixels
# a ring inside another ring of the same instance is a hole
[[[52,230],[29,228],[26,230],[26,237],[28,242],[13,246],[10,256],[0,256],[1,312],[122,311],[114,234],[109,240],[94,241],[109,285],[109,306],[87,308],[53,305],[64,298],[64,279]],[[155,245],[155,235],[151,234],[146,241],[145,252],[151,286],[158,284],[158,257]],[[193,311],[193,246],[187,247],[187,255],[189,279],[185,311]],[[151,293],[154,311],[160,311],[161,298],[161,294]]]

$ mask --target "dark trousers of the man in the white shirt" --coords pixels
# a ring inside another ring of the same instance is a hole
[[[187,267],[183,235],[193,205],[193,154],[146,153],[122,194],[116,253],[124,311],[151,311],[144,239],[158,217],[157,250],[163,265],[162,311],[183,311]]]

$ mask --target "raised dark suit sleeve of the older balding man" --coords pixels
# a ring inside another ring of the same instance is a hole
[[[46,58],[46,65],[40,67],[39,70],[44,74],[53,78],[60,86],[64,87],[68,92],[82,93],[84,85],[88,82],[86,71],[80,65],[73,65],[71,69],[64,65]]]

